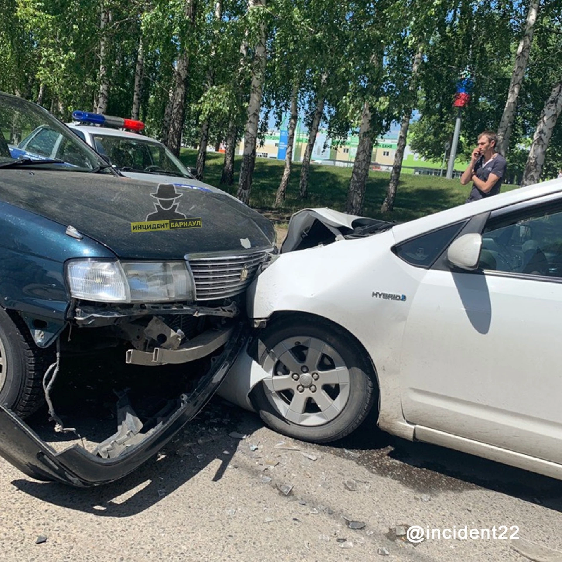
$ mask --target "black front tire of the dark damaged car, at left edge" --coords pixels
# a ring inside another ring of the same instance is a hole
[[[26,418],[43,404],[43,375],[52,352],[35,345],[24,322],[0,308],[0,404]]]

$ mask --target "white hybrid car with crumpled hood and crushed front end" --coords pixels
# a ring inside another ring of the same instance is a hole
[[[405,224],[291,219],[219,393],[328,442],[397,436],[562,478],[562,180]],[[368,430],[368,428],[365,428]]]

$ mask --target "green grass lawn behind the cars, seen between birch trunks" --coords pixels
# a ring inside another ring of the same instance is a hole
[[[187,166],[195,167],[197,152],[182,149],[181,160]],[[238,173],[242,162],[241,157],[236,157],[234,169],[234,185],[225,187],[220,185],[220,176],[223,170],[224,155],[217,152],[208,152],[205,166],[206,183],[215,185],[233,195],[238,187]],[[301,173],[301,164],[293,162],[291,181],[287,188],[287,196],[282,209],[274,210],[275,193],[283,174],[284,162],[256,158],[253,173],[250,205],[265,214],[287,219],[293,212],[303,207],[331,207],[338,211],[345,211],[347,188],[351,178],[351,167],[326,166],[311,164],[309,175],[309,196],[302,199],[298,194],[298,182]],[[369,172],[366,185],[365,202],[362,215],[382,218],[380,206],[386,196],[389,172]],[[516,186],[502,186],[502,191],[513,189]],[[470,192],[470,185],[461,185],[459,180],[448,180],[437,176],[420,176],[402,174],[394,211],[384,215],[385,219],[403,222],[416,219],[420,216],[448,209],[464,203]]]

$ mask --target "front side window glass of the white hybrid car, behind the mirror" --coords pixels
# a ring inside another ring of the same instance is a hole
[[[479,266],[562,278],[562,202],[490,219],[482,233]]]

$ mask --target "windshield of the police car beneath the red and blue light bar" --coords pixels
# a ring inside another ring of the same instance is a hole
[[[96,150],[119,170],[193,178],[182,162],[155,140],[103,133],[94,133],[92,137]]]

